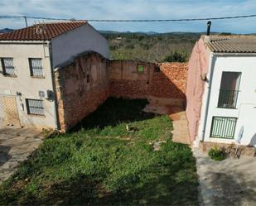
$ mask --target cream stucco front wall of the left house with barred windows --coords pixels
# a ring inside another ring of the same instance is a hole
[[[43,45],[39,41],[30,42],[0,42],[0,58],[12,57],[17,77],[8,77],[2,74],[0,64],[0,95],[14,95],[17,98],[17,110],[23,127],[56,127],[55,103],[43,99],[45,117],[28,115],[26,98],[40,99],[38,91],[53,90],[51,80],[51,60],[47,42]],[[28,58],[41,58],[45,78],[32,78],[30,75]],[[17,96],[22,93],[21,96]],[[0,108],[0,121],[4,116]]]

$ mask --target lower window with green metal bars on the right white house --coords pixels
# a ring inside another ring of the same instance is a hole
[[[234,117],[213,117],[210,137],[234,139],[236,120]]]

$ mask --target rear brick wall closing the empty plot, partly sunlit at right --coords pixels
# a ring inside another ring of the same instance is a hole
[[[138,72],[138,65],[144,72]],[[111,60],[110,95],[117,98],[186,99],[187,63],[146,63],[136,60]]]

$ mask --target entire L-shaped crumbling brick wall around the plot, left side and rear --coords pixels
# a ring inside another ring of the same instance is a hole
[[[106,60],[94,52],[78,55],[55,69],[60,129],[74,127],[109,96],[184,103],[186,70],[186,63]]]

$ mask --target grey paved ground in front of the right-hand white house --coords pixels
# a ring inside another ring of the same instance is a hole
[[[200,205],[256,205],[256,158],[211,160],[194,148],[200,180]]]

